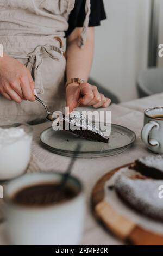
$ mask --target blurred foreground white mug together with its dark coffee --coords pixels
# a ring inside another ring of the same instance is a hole
[[[7,234],[12,245],[78,245],[84,219],[82,184],[61,173],[20,176],[5,187]]]

